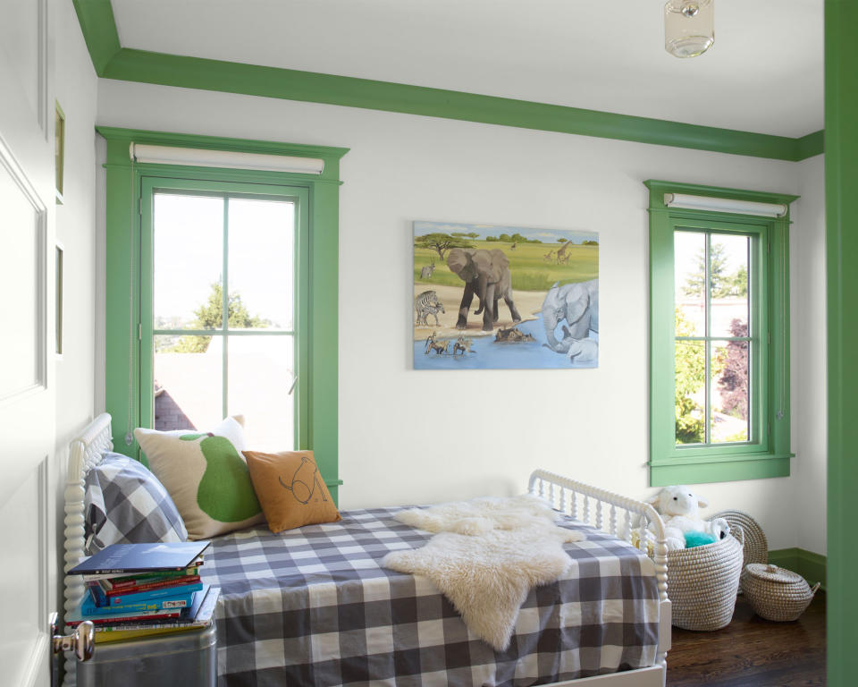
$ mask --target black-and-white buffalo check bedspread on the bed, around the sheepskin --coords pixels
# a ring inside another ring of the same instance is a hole
[[[587,539],[566,547],[563,579],[531,591],[500,653],[429,581],[381,566],[432,536],[395,521],[399,510],[215,538],[202,577],[221,588],[220,687],[526,687],[655,663],[655,570],[626,542],[568,521]]]

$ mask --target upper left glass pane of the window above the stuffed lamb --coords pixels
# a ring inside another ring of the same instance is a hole
[[[706,334],[706,234],[673,234],[677,336]]]

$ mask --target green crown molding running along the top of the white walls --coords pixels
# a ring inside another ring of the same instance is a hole
[[[822,132],[801,139],[497,98],[388,81],[299,72],[120,47],[109,0],[74,0],[98,76],[537,131],[796,162],[822,152]]]

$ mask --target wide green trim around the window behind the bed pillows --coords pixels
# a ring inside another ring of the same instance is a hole
[[[272,141],[227,139],[159,131],[97,127],[106,153],[106,335],[105,400],[113,415],[114,450],[139,457],[139,445],[126,444],[129,429],[150,426],[151,390],[141,380],[151,377],[152,275],[142,266],[151,260],[143,241],[148,209],[141,199],[153,189],[243,190],[299,199],[296,230],[304,246],[296,256],[299,280],[305,286],[296,303],[299,335],[299,407],[297,448],[315,454],[325,484],[338,499],[338,302],[340,159],[348,148],[303,146]],[[248,153],[316,157],[322,174],[291,174],[213,169],[130,162],[130,143],[233,150]],[[147,292],[148,293],[148,292]],[[131,312],[129,312],[129,308]],[[148,377],[147,377],[148,375]],[[130,386],[129,386],[130,381]],[[283,393],[287,392],[283,389]],[[130,423],[130,428],[128,427]],[[284,446],[284,448],[288,448]]]

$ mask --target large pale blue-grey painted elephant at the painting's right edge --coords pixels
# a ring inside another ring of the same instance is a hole
[[[543,326],[551,351],[568,353],[575,340],[585,339],[590,330],[599,331],[599,280],[579,284],[555,282],[543,301]],[[566,320],[562,341],[557,340],[554,330]]]

